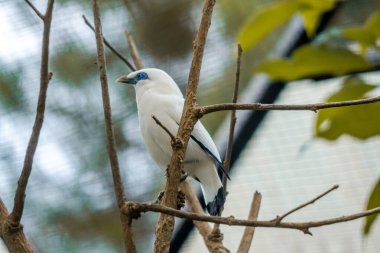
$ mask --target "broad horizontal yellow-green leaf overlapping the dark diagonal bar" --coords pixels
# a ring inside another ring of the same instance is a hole
[[[360,55],[344,48],[305,45],[294,51],[291,59],[268,60],[255,72],[265,72],[272,79],[295,80],[318,75],[343,75],[366,70],[370,64]]]

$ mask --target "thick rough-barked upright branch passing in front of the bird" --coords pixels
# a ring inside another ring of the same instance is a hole
[[[199,75],[202,65],[203,51],[206,43],[208,29],[211,24],[212,12],[215,0],[205,0],[203,13],[199,25],[197,37],[194,41],[193,60],[190,67],[189,82],[186,89],[185,105],[182,112],[180,126],[177,133],[179,139],[184,145],[173,145],[173,154],[167,171],[167,182],[165,187],[163,203],[168,207],[175,207],[177,199],[177,190],[181,175],[182,160],[185,157],[187,142],[197,121],[196,100]],[[156,225],[156,240],[154,243],[154,252],[169,252],[170,239],[174,229],[174,217],[161,214]]]

